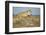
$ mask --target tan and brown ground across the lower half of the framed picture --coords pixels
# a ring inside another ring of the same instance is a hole
[[[40,27],[40,16],[13,16],[13,28]]]

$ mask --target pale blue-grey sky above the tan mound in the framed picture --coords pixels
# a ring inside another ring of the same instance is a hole
[[[33,7],[13,7],[13,15],[26,11],[28,9],[31,9],[32,15],[40,15],[40,8]]]

